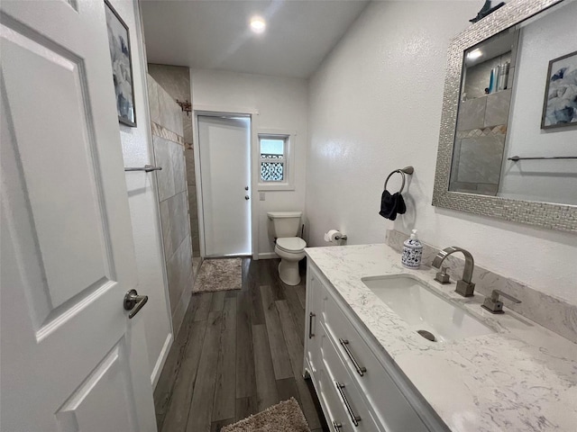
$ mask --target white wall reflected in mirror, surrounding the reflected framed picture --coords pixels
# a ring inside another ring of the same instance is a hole
[[[577,160],[507,160],[516,155],[577,155],[577,126],[541,130],[549,60],[577,49],[576,21],[577,2],[573,2],[521,31],[512,102],[514,112],[521,115],[513,116],[509,123],[499,196],[577,205]]]

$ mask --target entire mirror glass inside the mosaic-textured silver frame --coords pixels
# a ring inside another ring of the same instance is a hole
[[[464,51],[449,191],[577,205],[576,20],[569,2]]]

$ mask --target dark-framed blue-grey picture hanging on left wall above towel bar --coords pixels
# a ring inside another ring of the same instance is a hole
[[[136,108],[134,106],[133,59],[128,26],[120,15],[116,13],[112,4],[106,0],[105,14],[118,121],[135,128]]]

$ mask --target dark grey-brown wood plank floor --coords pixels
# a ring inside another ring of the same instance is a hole
[[[154,392],[159,431],[220,431],[291,396],[328,430],[302,377],[304,277],[285,285],[278,265],[245,258],[241,290],[193,295]]]

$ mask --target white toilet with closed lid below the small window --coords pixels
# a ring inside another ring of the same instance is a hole
[[[269,211],[271,235],[276,239],[275,253],[280,257],[279,277],[288,285],[298,285],[298,261],[305,257],[307,242],[297,237],[302,211]]]

